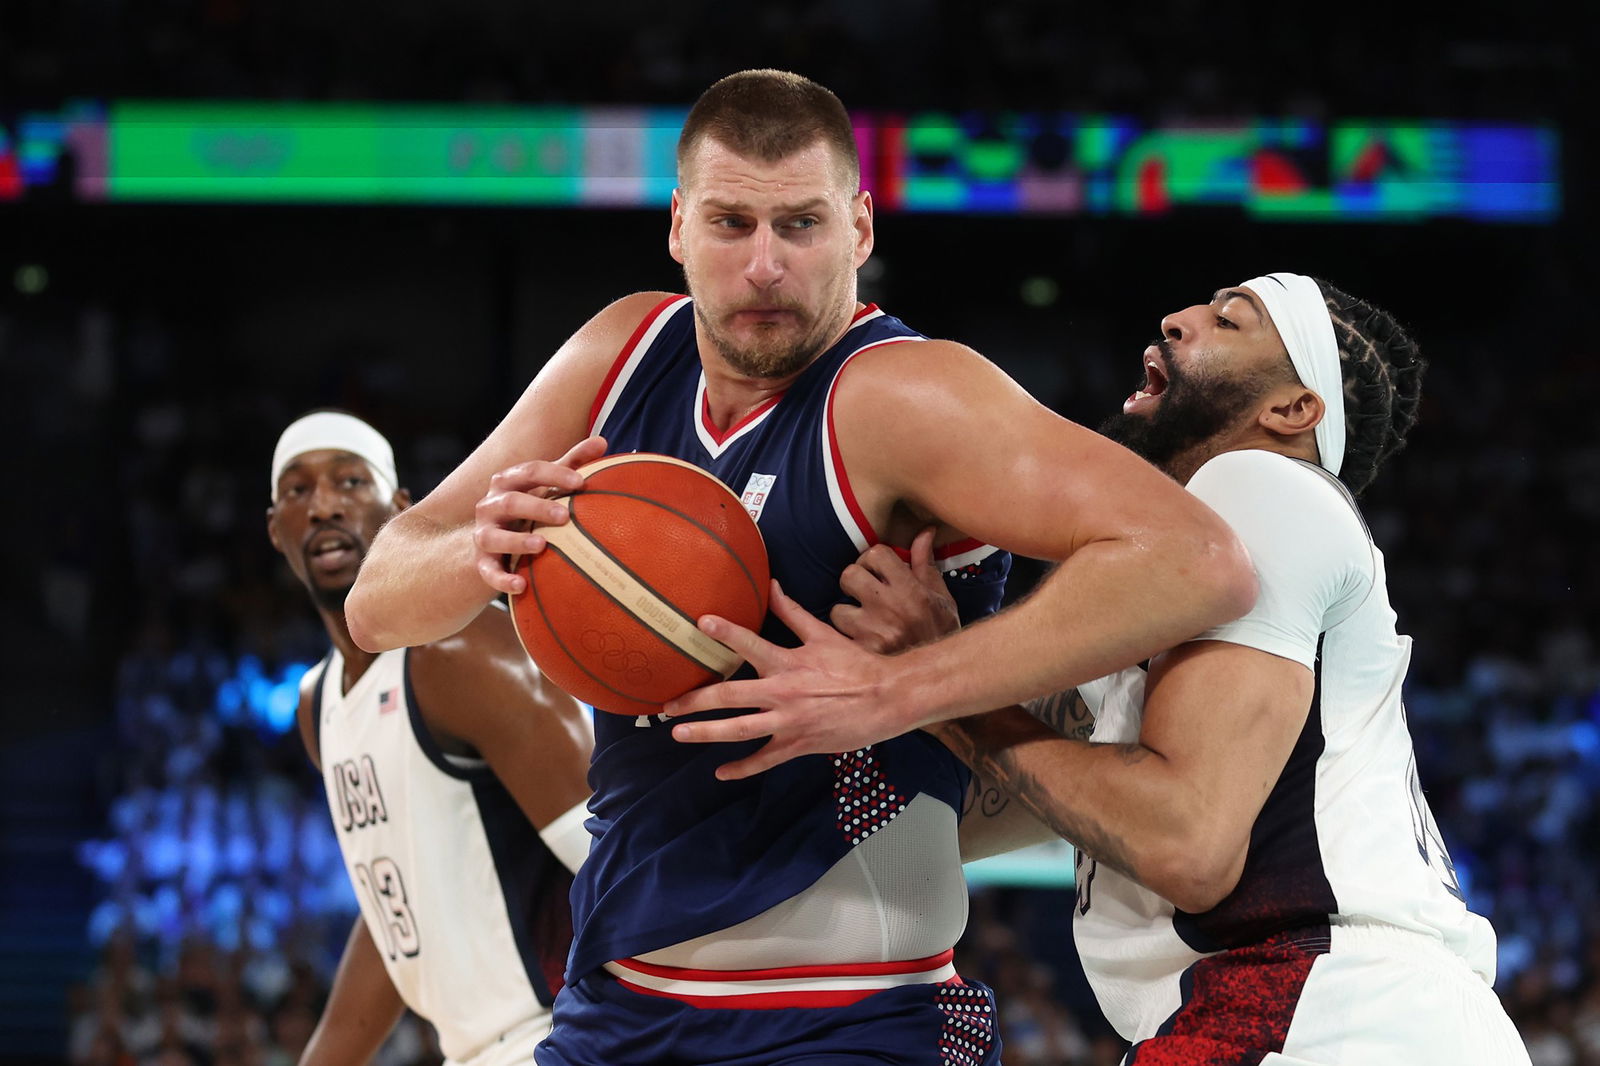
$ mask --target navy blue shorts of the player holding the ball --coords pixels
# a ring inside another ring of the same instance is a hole
[[[906,984],[845,1007],[696,1007],[592,973],[555,997],[539,1066],[1000,1066],[982,984]]]

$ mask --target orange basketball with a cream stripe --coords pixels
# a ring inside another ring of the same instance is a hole
[[[579,467],[565,525],[523,555],[512,597],[522,647],[555,685],[597,711],[656,714],[728,677],[739,656],[696,627],[701,615],[760,629],[766,546],[739,498],[706,471],[632,453]]]

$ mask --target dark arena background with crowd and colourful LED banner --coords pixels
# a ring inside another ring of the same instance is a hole
[[[1074,419],[1267,271],[1413,331],[1365,511],[1422,781],[1533,1061],[1600,1063],[1595,34],[1554,11],[6,0],[0,1061],[296,1061],[355,901],[290,728],[325,635],[277,432],[350,408],[427,491],[595,309],[682,285],[677,123],[778,66],[856,118],[864,298]],[[970,869],[1010,1066],[1122,1053],[1070,869]],[[379,1061],[438,1053],[408,1021]]]

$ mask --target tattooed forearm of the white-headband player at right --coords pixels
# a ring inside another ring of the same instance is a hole
[[[989,816],[1019,804],[1094,860],[1189,901],[1178,879],[1205,847],[1195,839],[1205,812],[1198,792],[1158,752],[1067,739],[1021,707],[947,722],[936,733],[998,789],[986,797]]]

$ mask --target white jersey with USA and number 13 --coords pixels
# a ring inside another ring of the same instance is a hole
[[[418,714],[408,651],[339,695],[317,733],[339,850],[400,997],[454,1063],[531,1063],[571,940],[565,869],[482,760],[445,755]]]

